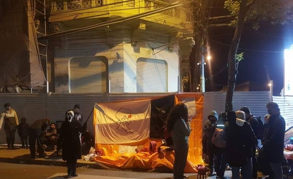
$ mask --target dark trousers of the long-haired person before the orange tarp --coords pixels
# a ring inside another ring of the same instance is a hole
[[[187,162],[188,144],[174,145],[175,159],[173,165],[174,179],[183,179]]]

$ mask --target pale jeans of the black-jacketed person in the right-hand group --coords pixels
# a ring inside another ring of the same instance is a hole
[[[242,174],[242,179],[252,179],[252,158],[248,159],[248,162],[242,167],[232,168],[232,179],[240,179],[240,169]]]

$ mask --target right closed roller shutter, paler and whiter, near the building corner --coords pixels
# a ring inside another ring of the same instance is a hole
[[[139,58],[136,62],[137,92],[167,92],[167,64],[164,60]]]

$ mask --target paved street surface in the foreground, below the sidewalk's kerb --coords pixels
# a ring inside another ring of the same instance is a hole
[[[173,176],[172,174],[166,173],[113,171],[88,168],[78,168],[77,172],[79,176],[74,179],[170,179]],[[63,179],[64,176],[66,176],[66,167],[0,162],[1,179]],[[196,178],[196,174],[189,175],[189,179]],[[208,177],[208,179],[215,179],[215,176]]]

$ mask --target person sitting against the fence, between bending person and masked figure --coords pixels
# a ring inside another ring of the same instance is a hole
[[[50,128],[45,131],[43,143],[47,145],[49,150],[55,151],[57,148],[57,130],[55,123],[50,124]]]

